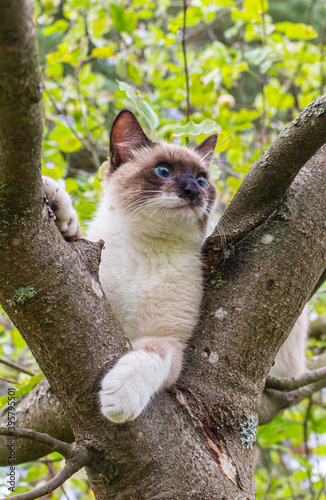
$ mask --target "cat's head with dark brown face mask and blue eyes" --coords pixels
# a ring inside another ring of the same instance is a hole
[[[204,230],[216,202],[208,170],[216,140],[211,135],[195,148],[152,142],[135,115],[121,111],[111,129],[107,186],[134,219],[198,223]]]

